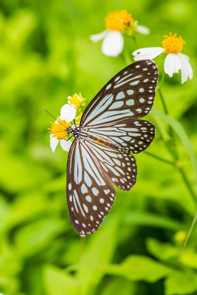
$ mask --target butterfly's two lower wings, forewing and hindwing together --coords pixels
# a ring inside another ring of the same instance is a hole
[[[136,163],[131,154],[77,139],[67,164],[69,216],[80,236],[94,233],[109,212],[115,190],[130,190],[136,181]]]

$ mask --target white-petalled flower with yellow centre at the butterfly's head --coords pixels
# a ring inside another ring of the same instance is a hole
[[[55,132],[50,135],[50,147],[53,152],[55,152],[55,149],[59,141],[61,147],[64,150],[69,151],[72,142],[67,138],[66,127],[70,126],[69,122],[72,121],[75,118],[75,116],[76,109],[74,106],[65,104],[62,107],[60,111],[60,117],[57,118],[57,120],[52,124],[50,128],[51,132]]]

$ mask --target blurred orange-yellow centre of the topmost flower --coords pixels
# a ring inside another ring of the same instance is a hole
[[[124,25],[130,25],[132,17],[127,10],[121,10],[110,13],[104,20],[107,29],[122,31]]]

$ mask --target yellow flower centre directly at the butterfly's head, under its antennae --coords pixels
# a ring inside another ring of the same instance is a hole
[[[66,138],[67,132],[66,127],[71,126],[70,123],[67,123],[66,120],[61,120],[59,117],[57,118],[58,121],[51,122],[51,128],[48,128],[49,133],[53,133],[53,137],[56,137],[57,139]]]

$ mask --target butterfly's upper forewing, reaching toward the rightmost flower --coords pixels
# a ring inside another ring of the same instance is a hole
[[[84,111],[81,126],[99,126],[122,119],[146,116],[154,102],[158,81],[151,60],[134,62],[112,78]]]

